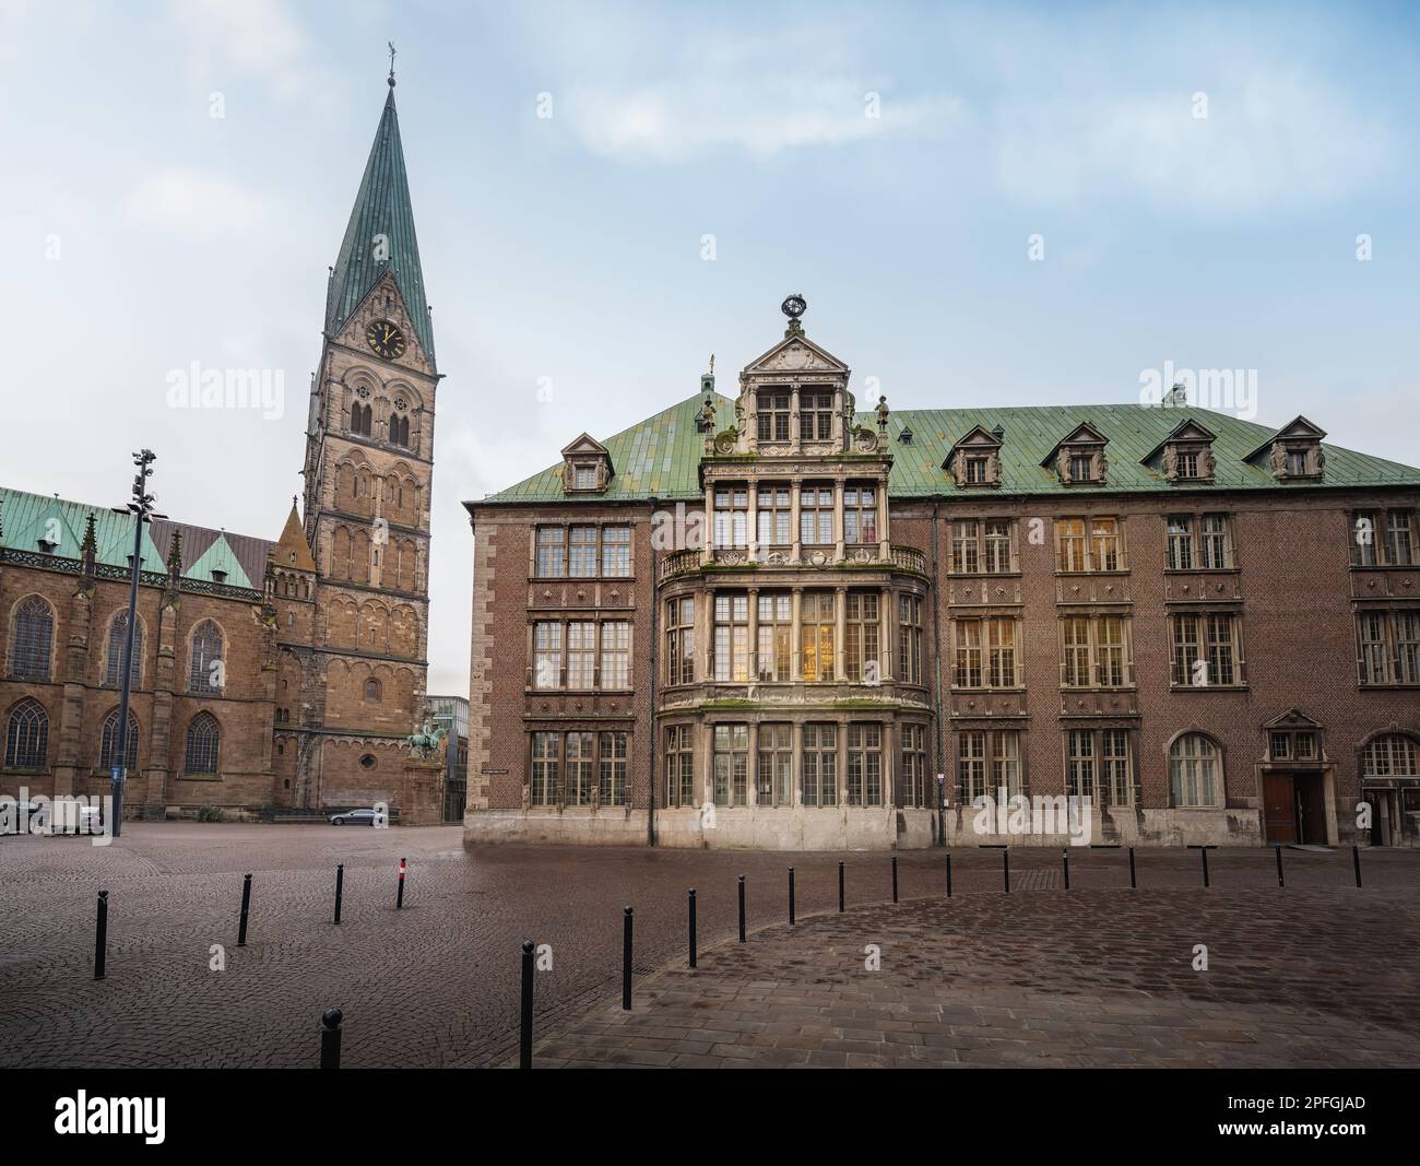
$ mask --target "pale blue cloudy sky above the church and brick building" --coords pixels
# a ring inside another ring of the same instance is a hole
[[[861,408],[1228,368],[1420,462],[1420,7],[0,0],[0,483],[122,504],[149,446],[165,513],[278,537],[386,41],[446,378],[430,693],[462,503],[710,354],[733,393],[790,293]],[[280,408],[175,408],[193,362]]]

